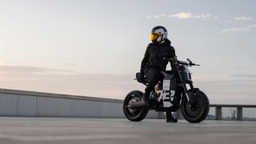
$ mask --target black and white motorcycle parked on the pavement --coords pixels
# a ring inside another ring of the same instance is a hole
[[[123,112],[132,122],[140,122],[149,110],[175,112],[181,110],[183,118],[191,123],[202,122],[209,113],[209,100],[201,90],[194,88],[189,66],[200,66],[190,61],[179,61],[176,58],[163,58],[176,67],[173,70],[161,71],[163,80],[154,86],[150,93],[150,105],[142,102],[142,91],[133,90],[126,95],[123,102]],[[136,74],[138,80],[140,73]],[[142,84],[148,85],[149,79],[144,78]],[[188,89],[190,86],[190,89]]]

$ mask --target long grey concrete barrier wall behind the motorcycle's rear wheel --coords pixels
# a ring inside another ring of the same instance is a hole
[[[0,89],[0,116],[125,118],[122,100]],[[147,118],[160,118],[150,111]]]

